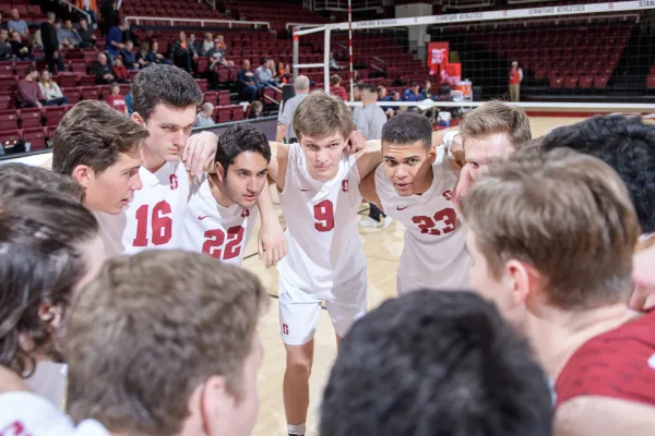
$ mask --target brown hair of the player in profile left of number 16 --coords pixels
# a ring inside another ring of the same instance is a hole
[[[147,137],[145,128],[104,101],[84,100],[69,110],[52,142],[52,171],[71,175],[80,165],[96,173],[116,164],[121,153],[135,153]]]

